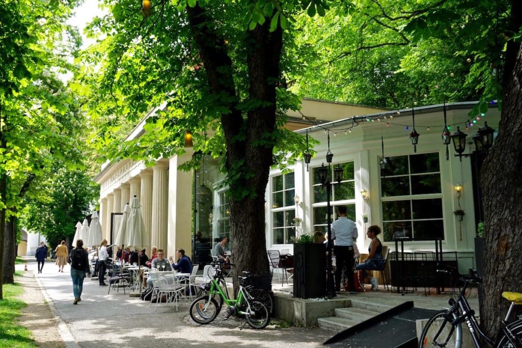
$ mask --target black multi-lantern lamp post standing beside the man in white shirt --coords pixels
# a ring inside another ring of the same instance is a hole
[[[331,240],[331,206],[330,206],[330,195],[331,195],[331,185],[337,184],[339,185],[342,181],[342,174],[343,169],[342,167],[337,164],[337,166],[334,169],[334,182],[330,181],[331,177],[331,165],[330,162],[332,158],[334,157],[334,154],[330,151],[330,134],[328,134],[328,151],[326,153],[326,161],[328,163],[328,166],[325,166],[324,163],[321,164],[321,167],[317,169],[317,176],[319,179],[319,183],[322,184],[323,187],[326,187],[326,215],[327,215],[327,222],[328,222],[328,244],[327,244],[327,251],[328,251],[328,258],[326,263],[326,297],[333,298],[336,297],[335,294],[335,284],[334,284],[334,274],[333,270],[334,267],[332,266],[331,261],[331,255],[332,255],[332,249],[333,249],[333,241]]]

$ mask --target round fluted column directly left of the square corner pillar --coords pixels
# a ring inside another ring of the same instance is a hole
[[[157,163],[152,168],[152,221],[150,243],[164,250],[167,249],[167,169],[168,165],[163,163]]]

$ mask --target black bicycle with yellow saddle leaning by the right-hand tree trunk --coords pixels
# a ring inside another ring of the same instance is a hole
[[[449,272],[449,270],[437,270],[437,272]],[[476,271],[473,270],[472,275],[460,275],[459,280],[464,283],[460,293],[455,301],[454,298],[449,299],[449,309],[441,310],[435,314],[424,327],[421,334],[420,347],[462,347],[462,322],[466,322],[471,338],[475,347],[480,348],[480,337],[485,342],[502,348],[522,348],[522,316],[518,316],[517,320],[508,323],[509,316],[515,305],[522,304],[522,293],[503,292],[502,297],[511,301],[511,306],[507,311],[506,317],[502,320],[502,325],[496,338],[488,337],[479,327],[479,323],[475,318],[475,313],[469,306],[465,292],[470,284],[482,283],[482,279],[477,277]]]

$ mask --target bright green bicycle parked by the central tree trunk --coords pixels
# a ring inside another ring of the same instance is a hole
[[[225,284],[222,265],[213,263],[212,267],[215,270],[215,274],[210,283],[205,285],[206,294],[196,298],[189,308],[192,320],[199,324],[212,322],[220,313],[221,303],[224,302],[227,304],[227,315],[223,320],[228,319],[230,316],[244,316],[246,322],[252,328],[263,329],[266,327],[270,322],[270,310],[263,303],[262,299],[255,298],[250,294],[248,289],[252,289],[251,286],[243,286],[249,277],[239,277],[241,285],[238,297],[230,298],[226,287],[223,289],[224,285],[222,285]],[[218,303],[216,298],[219,298],[220,303]]]

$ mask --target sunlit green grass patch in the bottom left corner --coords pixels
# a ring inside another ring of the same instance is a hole
[[[27,306],[16,298],[23,293],[22,286],[18,283],[4,284],[3,293],[4,299],[0,299],[0,347],[35,347],[31,331],[18,325],[16,320],[20,316],[20,309]]]

